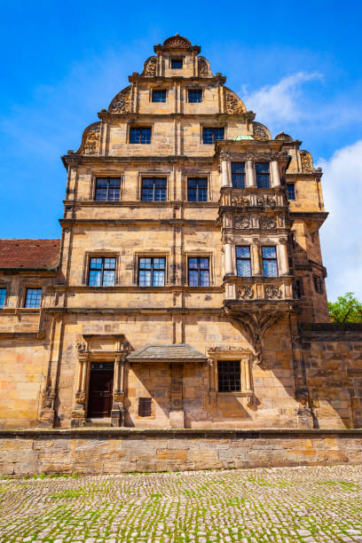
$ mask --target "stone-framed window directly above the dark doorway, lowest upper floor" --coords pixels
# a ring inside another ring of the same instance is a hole
[[[86,252],[83,257],[82,285],[114,287],[119,285],[120,256],[114,251]]]

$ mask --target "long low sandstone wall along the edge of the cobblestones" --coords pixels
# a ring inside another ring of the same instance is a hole
[[[362,429],[0,431],[0,474],[361,464]]]

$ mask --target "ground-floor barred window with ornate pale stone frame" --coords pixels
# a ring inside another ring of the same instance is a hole
[[[208,350],[210,402],[217,396],[229,394],[246,397],[248,405],[254,403],[251,350],[239,347],[215,347]]]

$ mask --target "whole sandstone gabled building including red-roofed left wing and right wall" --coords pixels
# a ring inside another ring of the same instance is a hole
[[[182,36],[67,169],[61,240],[0,240],[1,428],[357,428],[329,323],[320,169]]]

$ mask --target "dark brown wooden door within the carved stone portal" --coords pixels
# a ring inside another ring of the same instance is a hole
[[[114,369],[109,364],[92,364],[88,416],[104,418],[111,416],[113,404]]]

